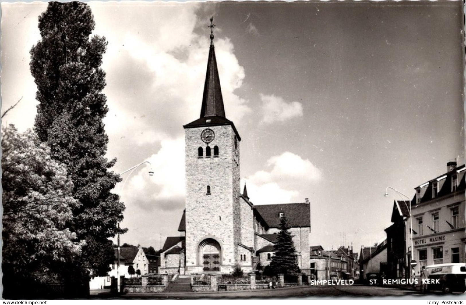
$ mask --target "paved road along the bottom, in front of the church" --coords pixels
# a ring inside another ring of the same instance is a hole
[[[331,286],[302,286],[296,288],[279,288],[264,290],[244,290],[237,292],[196,292],[196,293],[153,293],[126,294],[121,298],[158,298],[158,299],[193,299],[193,298],[286,298],[286,297],[384,297],[384,296],[413,296],[419,292],[398,288],[363,286],[363,285],[331,285]],[[98,298],[111,298],[107,293],[99,294]]]

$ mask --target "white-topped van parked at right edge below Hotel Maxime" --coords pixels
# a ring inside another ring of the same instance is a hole
[[[421,290],[425,290],[423,292],[433,290],[441,290],[443,293],[466,291],[466,264],[464,263],[426,266],[425,274],[425,285],[422,285],[421,282]]]

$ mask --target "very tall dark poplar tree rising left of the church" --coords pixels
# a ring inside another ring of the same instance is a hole
[[[69,227],[86,245],[81,259],[69,264],[74,269],[67,272],[74,277],[70,281],[108,270],[114,255],[109,238],[117,233],[124,210],[110,192],[121,179],[109,171],[116,159],[105,158],[108,136],[102,120],[108,108],[100,66],[107,42],[90,37],[94,27],[86,4],[50,2],[39,17],[41,40],[31,49],[39,101],[34,129],[52,158],[67,165],[73,197],[80,202]]]

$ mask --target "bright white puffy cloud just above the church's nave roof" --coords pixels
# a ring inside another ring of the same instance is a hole
[[[292,152],[268,159],[267,166],[270,171],[258,171],[247,178],[247,192],[254,204],[292,202],[309,183],[322,178],[322,172],[308,159]]]

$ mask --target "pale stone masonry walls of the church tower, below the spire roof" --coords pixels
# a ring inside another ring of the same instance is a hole
[[[239,142],[235,149],[231,126],[209,128],[215,133],[214,140],[209,143],[210,158],[206,158],[207,145],[200,138],[205,127],[185,129],[186,273],[202,266],[198,247],[207,238],[219,243],[221,264],[234,265],[235,242],[240,237],[239,230],[235,232],[239,223],[235,225],[233,220],[239,214]],[[214,146],[219,147],[218,157],[213,157]],[[203,158],[198,158],[199,147],[204,150]],[[207,186],[210,186],[210,194],[207,194]]]

